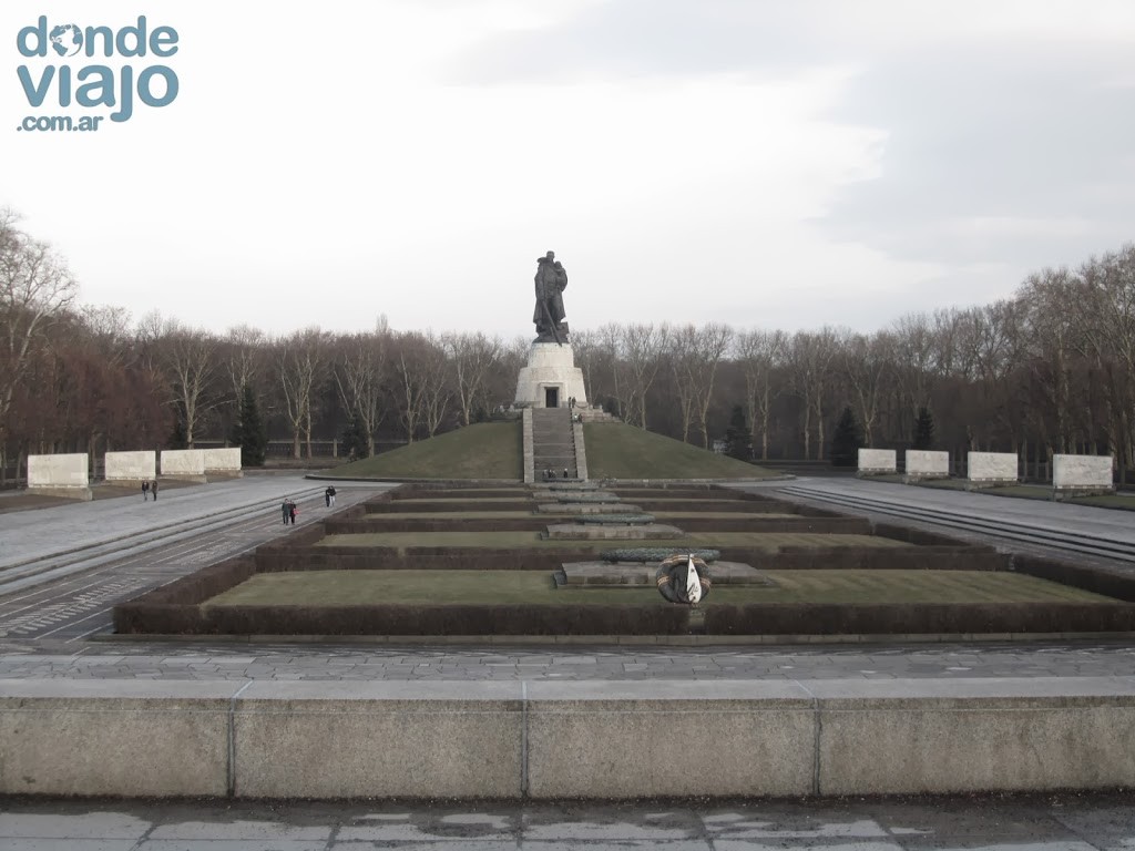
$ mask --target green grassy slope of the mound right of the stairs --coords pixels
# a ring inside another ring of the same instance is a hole
[[[621,422],[583,423],[583,443],[587,472],[592,479],[760,479],[773,475],[728,455]]]

